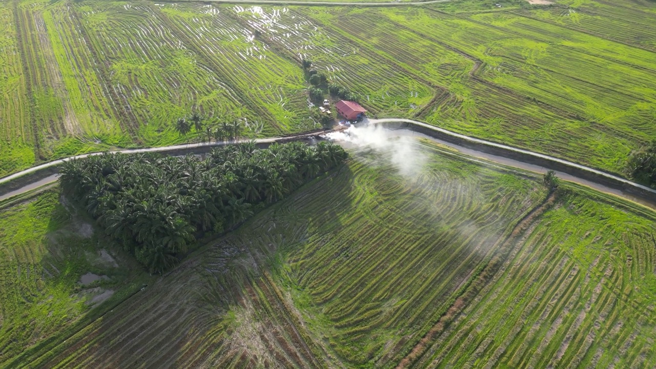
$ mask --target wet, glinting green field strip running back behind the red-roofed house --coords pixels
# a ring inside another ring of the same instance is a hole
[[[233,9],[232,7],[230,9]],[[308,14],[329,14],[333,9],[234,7],[277,49],[312,60],[312,68],[333,83],[356,93],[371,114],[407,116],[434,96],[435,88],[420,78],[389,64],[348,35],[336,33]],[[242,11],[243,9],[243,11]],[[261,12],[261,13],[260,13]],[[251,14],[258,14],[253,15]],[[415,106],[415,108],[413,108]]]

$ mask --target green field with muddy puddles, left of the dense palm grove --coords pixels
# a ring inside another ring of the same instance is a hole
[[[56,190],[0,208],[0,366],[65,339],[147,282],[127,254],[70,209]],[[108,279],[83,286],[88,272]],[[104,303],[102,293],[111,293]]]

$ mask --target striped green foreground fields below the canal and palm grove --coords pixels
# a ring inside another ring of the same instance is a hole
[[[3,284],[33,287],[3,304],[0,367],[656,364],[656,213],[567,183],[550,195],[536,175],[413,147],[425,160],[412,174],[354,151],[170,274],[112,276],[123,302],[91,311],[72,286],[107,267],[78,256],[49,276],[57,257],[43,250],[53,232],[87,240],[90,253],[99,240],[80,238],[56,192],[10,206],[4,223],[42,226],[2,246],[29,255],[31,271],[3,257]]]

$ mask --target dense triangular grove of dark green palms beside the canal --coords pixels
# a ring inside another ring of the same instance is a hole
[[[157,154],[105,154],[62,165],[64,194],[150,272],[186,255],[205,232],[223,233],[264,204],[340,165],[341,146],[253,142],[215,148],[205,160]]]

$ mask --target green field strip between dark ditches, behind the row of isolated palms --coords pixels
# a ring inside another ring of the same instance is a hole
[[[236,91],[171,28],[156,5],[98,1],[75,10],[115,90],[115,104],[125,106],[123,130],[139,141],[180,141],[173,122],[194,109],[207,116],[254,116],[252,106],[243,106]]]

